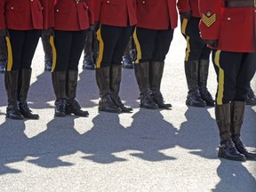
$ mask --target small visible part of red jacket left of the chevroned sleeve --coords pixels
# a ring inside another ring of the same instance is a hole
[[[178,0],[179,12],[192,12],[192,16],[200,18],[198,0]]]

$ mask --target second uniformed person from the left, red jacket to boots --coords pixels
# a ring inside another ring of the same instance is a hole
[[[55,115],[88,116],[76,100],[78,64],[86,34],[93,24],[90,0],[55,0],[52,85]],[[51,41],[51,40],[50,40]]]

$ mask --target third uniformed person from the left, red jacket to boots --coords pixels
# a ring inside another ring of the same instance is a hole
[[[119,97],[122,57],[136,24],[135,0],[94,0],[95,21],[100,52],[96,81],[100,89],[99,110],[130,112]]]

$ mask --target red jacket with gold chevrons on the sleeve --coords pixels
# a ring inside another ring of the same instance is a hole
[[[199,0],[199,11],[202,13],[199,24],[201,36],[207,40],[218,40],[215,49],[256,52],[255,5],[227,7],[225,0]]]

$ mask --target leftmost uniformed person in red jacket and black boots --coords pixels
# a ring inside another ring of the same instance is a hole
[[[51,5],[53,8],[53,1],[48,0],[0,1],[0,34],[5,37],[8,47],[8,63],[4,73],[8,118],[39,118],[28,108],[27,96],[31,62],[41,29],[53,27]]]

